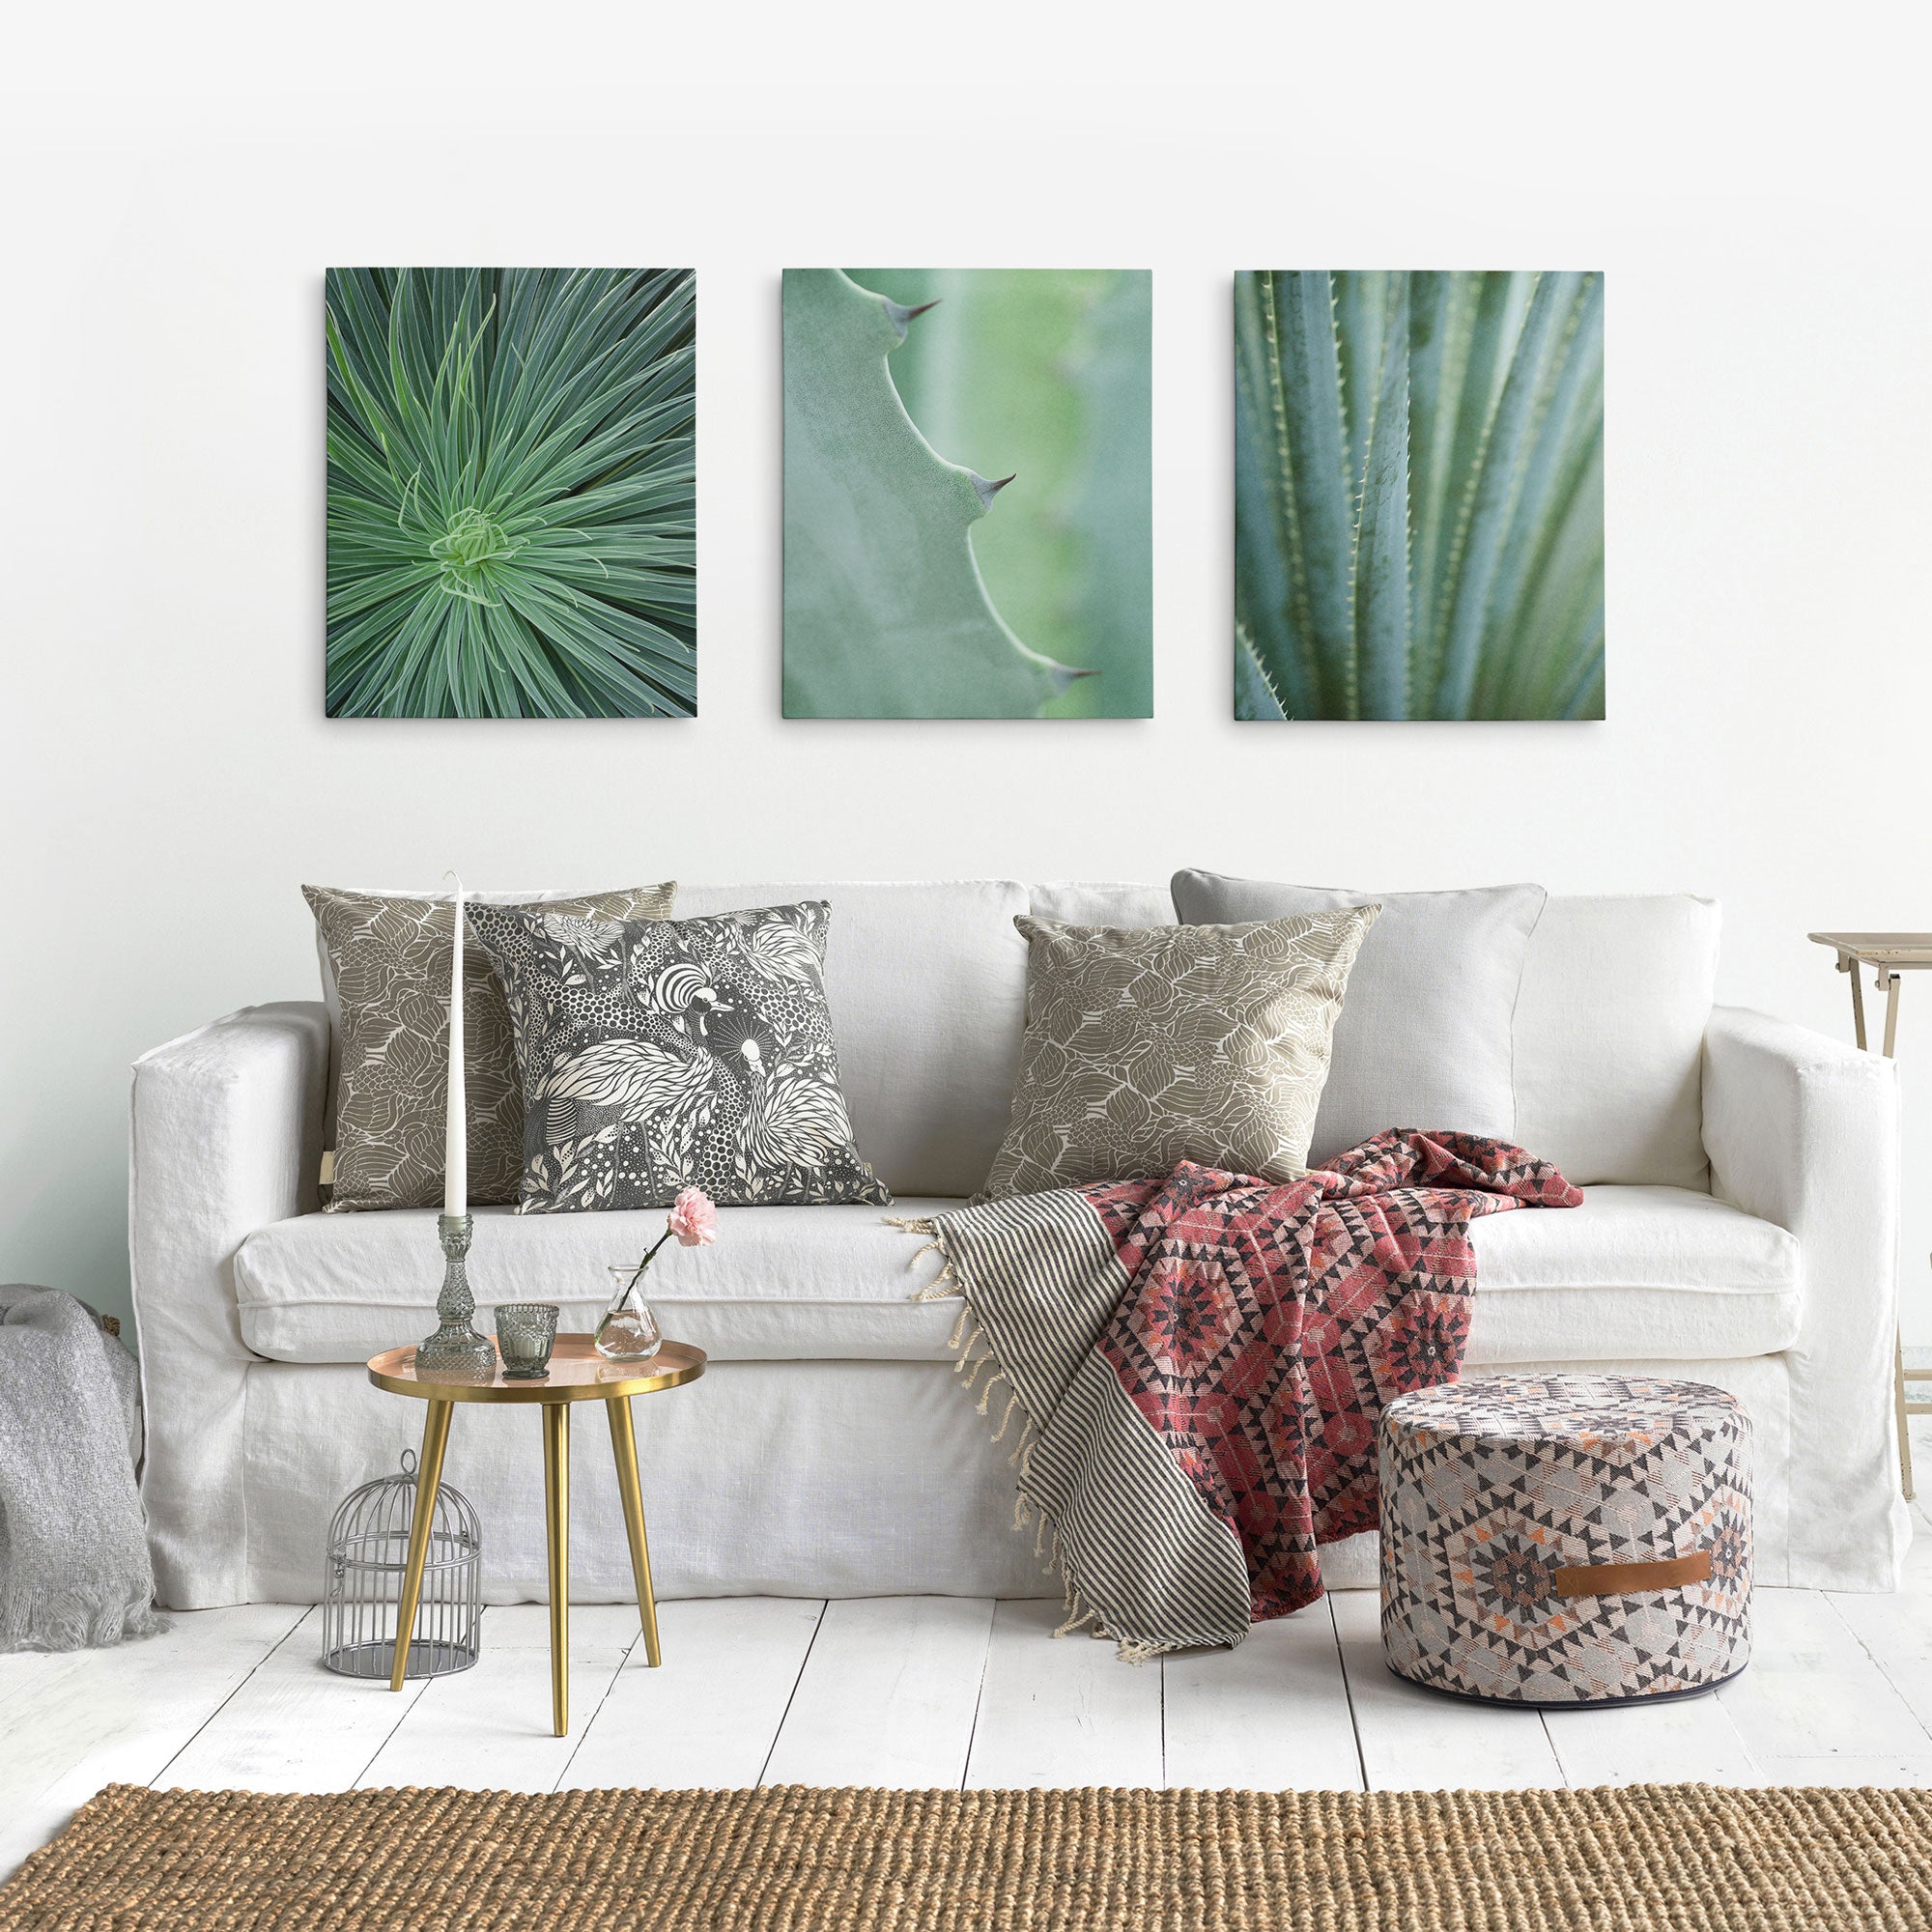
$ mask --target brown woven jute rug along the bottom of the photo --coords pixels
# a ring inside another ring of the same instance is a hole
[[[0,1932],[1847,1932],[1932,1924],[1932,1793],[112,1785]]]

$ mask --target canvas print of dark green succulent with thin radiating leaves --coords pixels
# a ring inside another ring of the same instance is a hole
[[[330,717],[697,711],[690,269],[330,269]]]

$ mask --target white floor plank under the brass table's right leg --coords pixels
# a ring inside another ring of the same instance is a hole
[[[632,1648],[564,1772],[564,1787],[755,1785],[825,1605],[719,1596],[657,1605],[665,1662]]]

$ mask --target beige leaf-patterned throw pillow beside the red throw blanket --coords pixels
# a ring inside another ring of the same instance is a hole
[[[1349,968],[1379,910],[1148,931],[1014,920],[1032,949],[1026,1041],[980,1198],[1180,1161],[1300,1179]]]

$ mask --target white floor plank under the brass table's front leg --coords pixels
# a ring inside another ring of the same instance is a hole
[[[630,1604],[572,1605],[570,1735],[556,1737],[551,1729],[549,1605],[485,1609],[475,1669],[429,1683],[357,1783],[554,1791],[634,1638],[641,1646],[638,1611]]]

